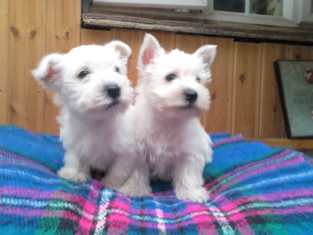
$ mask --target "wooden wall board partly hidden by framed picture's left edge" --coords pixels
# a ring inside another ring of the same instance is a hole
[[[288,59],[289,45],[264,43],[262,54],[259,137],[285,137],[274,62]]]

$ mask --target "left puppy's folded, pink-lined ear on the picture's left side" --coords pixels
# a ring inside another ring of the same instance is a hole
[[[32,75],[41,85],[50,91],[61,91],[62,79],[62,62],[63,55],[53,53],[44,56],[39,62]]]

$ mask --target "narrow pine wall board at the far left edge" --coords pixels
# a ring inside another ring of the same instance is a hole
[[[0,1],[0,125],[8,124],[9,1]]]

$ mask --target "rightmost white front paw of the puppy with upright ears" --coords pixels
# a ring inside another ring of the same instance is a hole
[[[179,200],[191,200],[193,202],[203,203],[210,198],[209,192],[203,188],[177,189],[175,194]]]

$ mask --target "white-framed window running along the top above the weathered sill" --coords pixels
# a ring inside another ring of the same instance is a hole
[[[127,7],[124,12],[134,8],[134,13],[171,8],[166,15],[187,12],[184,17],[239,23],[292,27],[313,23],[313,0],[94,0],[94,4]]]

